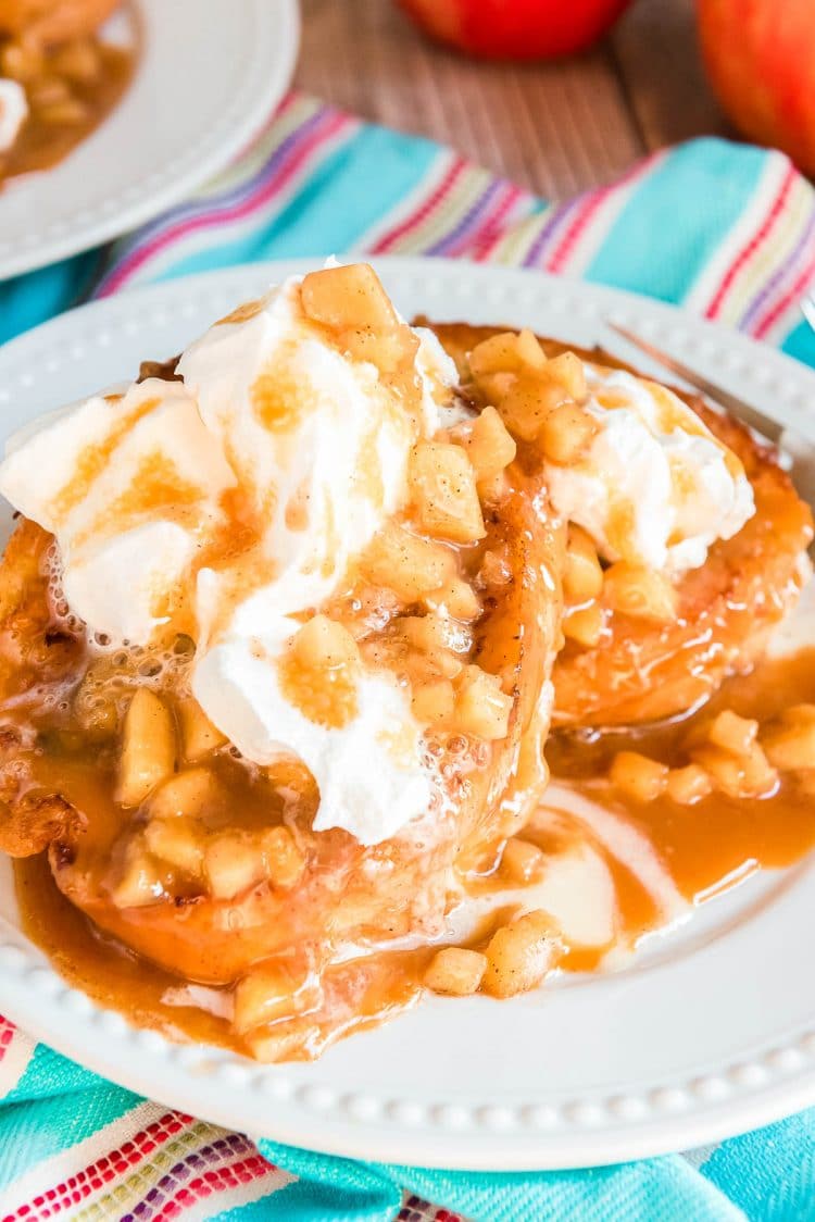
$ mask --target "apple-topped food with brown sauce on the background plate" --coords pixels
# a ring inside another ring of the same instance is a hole
[[[61,161],[116,106],[134,51],[101,27],[119,0],[0,0],[0,187]]]

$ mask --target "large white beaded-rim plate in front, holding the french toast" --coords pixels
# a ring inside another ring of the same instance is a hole
[[[165,357],[298,264],[176,280],[88,306],[0,351],[0,433]],[[406,314],[524,324],[576,343],[613,318],[815,435],[815,376],[627,293],[540,273],[381,260]],[[0,871],[0,1012],[167,1105],[292,1145],[448,1168],[579,1167],[687,1149],[815,1103],[813,865],[743,884],[618,975],[511,1002],[429,998],[316,1064],[261,1067],[136,1031],[66,989],[16,927]]]

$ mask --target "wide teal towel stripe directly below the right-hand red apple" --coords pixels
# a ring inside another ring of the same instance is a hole
[[[750,207],[767,165],[764,149],[728,141],[693,141],[673,149],[637,186],[585,279],[683,301]]]

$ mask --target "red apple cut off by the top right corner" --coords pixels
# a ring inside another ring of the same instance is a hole
[[[815,0],[698,0],[714,90],[736,126],[815,174]]]

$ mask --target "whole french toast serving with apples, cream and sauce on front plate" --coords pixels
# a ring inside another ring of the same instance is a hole
[[[726,678],[808,511],[596,354],[409,326],[327,266],[24,430],[0,491],[0,847],[31,936],[136,1022],[312,1057],[424,989],[619,963],[813,841],[815,664]]]

